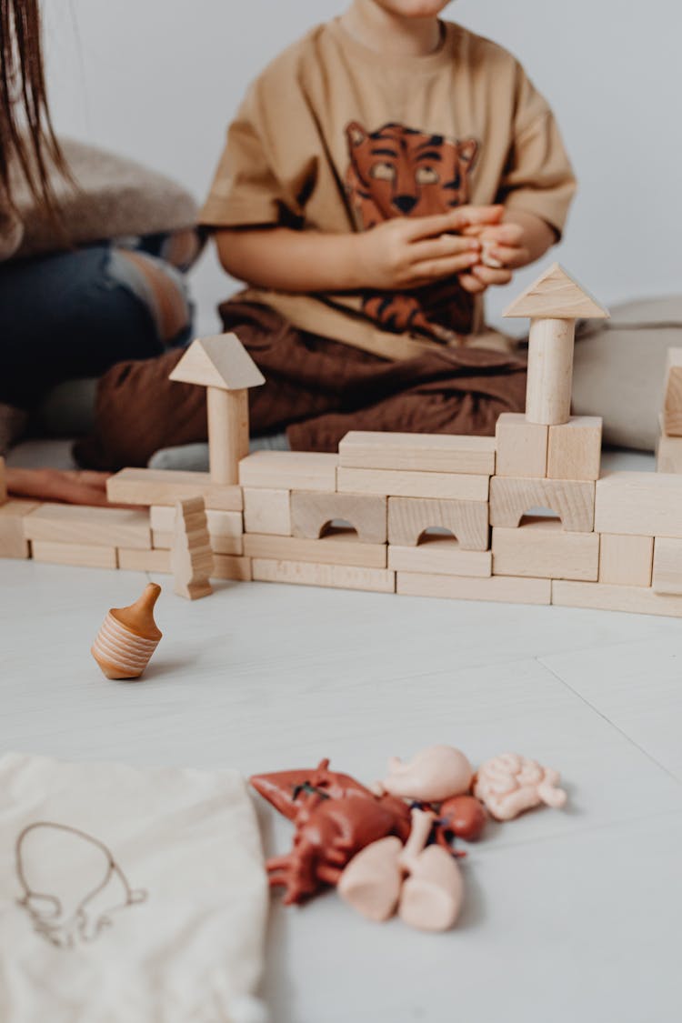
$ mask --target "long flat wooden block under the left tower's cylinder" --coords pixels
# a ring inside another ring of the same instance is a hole
[[[175,504],[202,497],[208,508],[241,511],[241,487],[212,483],[209,473],[172,472],[165,469],[123,469],[106,482],[115,504]]]

